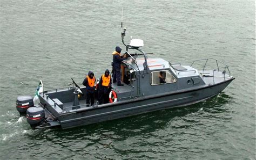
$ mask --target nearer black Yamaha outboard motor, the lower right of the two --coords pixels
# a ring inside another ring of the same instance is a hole
[[[35,106],[30,107],[26,111],[26,121],[30,124],[31,128],[35,129],[36,126],[42,125],[45,119],[44,108]]]

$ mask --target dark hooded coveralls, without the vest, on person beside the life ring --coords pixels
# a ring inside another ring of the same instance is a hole
[[[106,72],[108,72],[108,75],[106,75]],[[106,69],[105,71],[105,77],[109,76],[109,70]],[[109,93],[111,90],[111,84],[112,84],[112,79],[110,76],[110,83],[108,84],[108,86],[104,86],[103,84],[103,78],[100,77],[99,79],[99,104],[106,104],[109,103]]]

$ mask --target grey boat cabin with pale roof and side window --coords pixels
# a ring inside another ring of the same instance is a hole
[[[121,80],[124,86],[112,83],[118,101],[205,84],[198,71],[190,66],[173,66],[163,59],[149,57],[146,60],[146,68],[144,57],[129,57],[122,62]]]

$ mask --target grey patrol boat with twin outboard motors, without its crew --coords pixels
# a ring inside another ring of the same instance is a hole
[[[198,103],[223,91],[235,78],[226,64],[215,59],[201,59],[183,66],[164,59],[147,57],[140,47],[143,40],[122,42],[128,58],[121,64],[124,86],[112,83],[110,103],[86,107],[86,90],[75,81],[73,86],[43,91],[39,83],[34,105],[31,96],[17,98],[17,110],[26,113],[32,128],[72,128],[92,123],[129,117],[131,115]],[[137,53],[138,52],[138,53]],[[211,69],[208,66],[214,62]],[[193,66],[203,64],[198,70]]]

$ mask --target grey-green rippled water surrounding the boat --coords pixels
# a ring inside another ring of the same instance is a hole
[[[0,2],[0,159],[200,158],[254,159],[254,1]],[[18,95],[82,85],[111,69],[126,41],[172,63],[214,58],[236,79],[218,96],[188,107],[68,130],[32,130],[16,111]]]

